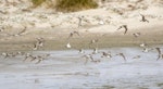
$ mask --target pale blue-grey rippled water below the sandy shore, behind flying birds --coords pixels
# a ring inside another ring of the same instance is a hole
[[[143,53],[140,48],[100,49],[110,51],[113,58],[95,54],[91,62],[77,50],[34,51],[47,54],[39,64],[24,60],[24,55],[0,59],[0,89],[161,89],[163,88],[163,60],[156,61],[158,52]],[[85,54],[92,50],[85,50]],[[115,56],[123,52],[122,56]],[[133,59],[140,55],[140,59]]]

